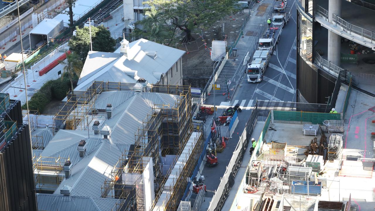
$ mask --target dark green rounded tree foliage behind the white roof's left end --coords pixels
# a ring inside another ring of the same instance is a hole
[[[103,25],[98,27],[91,27],[91,39],[93,51],[113,52],[116,41],[111,37],[111,32]],[[76,35],[69,39],[69,48],[73,51],[84,63],[87,53],[90,50],[90,29],[83,27],[79,29],[76,27]]]

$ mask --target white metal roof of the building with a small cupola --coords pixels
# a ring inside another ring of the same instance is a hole
[[[147,39],[130,42],[129,47],[127,57],[120,56],[120,48],[114,53],[90,51],[75,90],[84,90],[93,81],[135,83],[145,78],[155,84],[185,53]],[[151,51],[156,52],[156,58],[148,55]]]

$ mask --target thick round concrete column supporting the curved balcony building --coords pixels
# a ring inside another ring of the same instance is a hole
[[[332,14],[341,16],[341,1],[329,0],[328,21],[332,23]],[[340,66],[341,36],[328,29],[328,61]]]

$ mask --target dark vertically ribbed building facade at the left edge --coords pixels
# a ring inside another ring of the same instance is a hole
[[[30,132],[21,102],[0,93],[0,210],[36,211]]]

